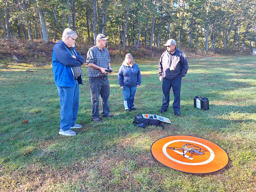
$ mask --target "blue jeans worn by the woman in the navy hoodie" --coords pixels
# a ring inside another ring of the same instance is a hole
[[[137,90],[136,87],[126,87],[124,86],[123,95],[124,95],[124,108],[131,109],[134,107],[134,96]]]

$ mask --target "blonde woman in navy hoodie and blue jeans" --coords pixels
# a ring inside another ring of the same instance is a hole
[[[136,110],[134,107],[134,96],[137,87],[140,87],[141,74],[139,66],[134,62],[132,55],[127,53],[118,71],[118,84],[124,95],[125,111]]]

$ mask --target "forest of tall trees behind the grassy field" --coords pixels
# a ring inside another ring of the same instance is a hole
[[[149,50],[147,54],[153,54],[170,38],[177,41],[178,48],[188,52],[252,53],[255,48],[255,0],[0,0],[0,3],[1,39],[56,42],[69,27],[76,31],[77,43],[88,48],[95,44],[97,34],[105,34],[117,57],[127,46],[128,52],[145,49]]]

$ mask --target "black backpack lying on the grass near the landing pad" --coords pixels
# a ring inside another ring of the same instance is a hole
[[[148,125],[159,126],[159,127],[162,127],[163,130],[165,128],[164,125],[161,123],[161,121],[156,119],[156,117],[153,118],[151,116],[147,119],[147,118],[144,118],[142,114],[136,115],[132,124],[137,126],[137,127],[142,127],[142,128],[145,128]]]

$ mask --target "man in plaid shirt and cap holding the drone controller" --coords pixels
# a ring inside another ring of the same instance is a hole
[[[110,115],[110,109],[108,105],[109,97],[109,81],[108,73],[105,69],[110,69],[110,57],[109,52],[105,48],[106,41],[109,38],[103,34],[99,34],[96,37],[96,45],[91,47],[87,52],[86,65],[88,66],[89,85],[91,89],[91,101],[92,101],[92,119],[96,122],[100,122],[99,118],[99,97],[103,112],[102,117],[113,117]]]

